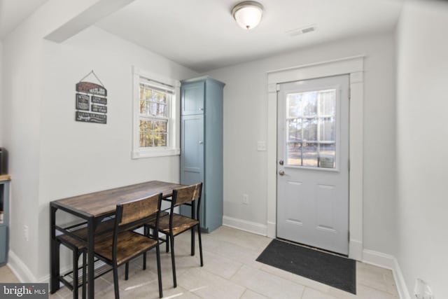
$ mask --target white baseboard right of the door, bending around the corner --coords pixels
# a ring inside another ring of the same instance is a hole
[[[363,262],[392,270],[393,279],[395,279],[395,284],[397,285],[397,291],[400,299],[411,299],[409,291],[407,291],[407,286],[402,275],[400,265],[398,264],[398,260],[395,258],[395,256],[391,256],[390,254],[378,251],[364,249]]]

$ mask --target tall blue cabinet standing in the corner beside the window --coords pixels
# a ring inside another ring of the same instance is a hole
[[[201,228],[223,224],[223,88],[205,76],[181,82],[181,183],[202,181]],[[181,207],[182,214],[189,214]]]

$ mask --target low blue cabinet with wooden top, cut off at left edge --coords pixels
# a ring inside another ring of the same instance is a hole
[[[6,265],[8,262],[9,183],[8,175],[0,176],[0,266]]]

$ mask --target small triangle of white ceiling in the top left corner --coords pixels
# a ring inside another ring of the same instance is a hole
[[[48,0],[0,0],[0,39]]]

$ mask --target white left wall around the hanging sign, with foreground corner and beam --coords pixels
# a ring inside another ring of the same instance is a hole
[[[48,1],[3,40],[2,131],[13,178],[8,262],[25,281],[48,279],[51,200],[179,180],[179,156],[130,158],[132,65],[178,79],[196,73],[96,28],[62,44],[43,39],[97,1]],[[107,125],[74,120],[75,84],[92,69],[109,92]]]

